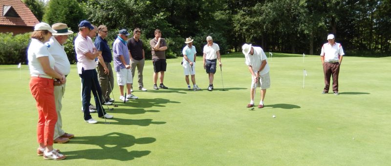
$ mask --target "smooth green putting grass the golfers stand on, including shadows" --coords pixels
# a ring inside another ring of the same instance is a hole
[[[114,81],[112,98],[118,107],[104,105],[106,110],[114,108],[107,111],[114,118],[105,124],[91,113],[98,120],[94,125],[83,119],[80,78],[76,65],[71,65],[62,119],[65,132],[75,137],[53,145],[67,156],[62,161],[46,161],[36,154],[38,113],[29,90],[28,65],[0,65],[0,166],[391,165],[391,57],[347,53],[337,96],[321,94],[319,56],[266,55],[271,87],[264,108],[257,107],[260,89],[255,109],[246,108],[251,75],[241,53],[222,55],[213,91],[207,90],[200,56],[195,64],[200,91],[187,90],[182,58],[167,60],[164,84],[169,89],[153,90],[149,60],[144,67],[148,91],[136,85],[132,94],[139,99],[124,104]]]

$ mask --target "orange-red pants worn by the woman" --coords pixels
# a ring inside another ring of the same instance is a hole
[[[30,91],[38,109],[38,143],[53,145],[54,126],[57,122],[56,104],[54,103],[53,79],[31,77]]]

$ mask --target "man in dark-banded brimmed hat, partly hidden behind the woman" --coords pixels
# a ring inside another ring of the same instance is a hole
[[[65,75],[66,77],[70,72],[70,63],[64,50],[64,44],[68,40],[68,35],[73,34],[73,32],[68,30],[68,26],[65,23],[55,23],[52,25],[52,28],[56,30],[57,33],[53,33],[53,36],[50,38],[49,42],[47,42],[50,45],[47,50],[53,56],[56,62],[54,64],[54,70],[56,70],[57,73]],[[54,127],[54,143],[66,143],[69,141],[69,138],[74,137],[73,134],[66,133],[63,130],[61,110],[63,108],[62,99],[64,93],[65,83],[55,82],[54,100],[56,102],[57,123]]]

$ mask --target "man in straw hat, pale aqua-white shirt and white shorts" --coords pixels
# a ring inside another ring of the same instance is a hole
[[[189,74],[192,76],[192,83],[193,83],[193,90],[201,90],[195,84],[195,58],[197,51],[195,50],[195,46],[193,45],[193,39],[192,38],[186,38],[185,43],[187,44],[185,47],[183,47],[182,54],[183,54],[183,70],[185,74],[185,81],[187,83],[187,89],[191,90],[192,87],[190,86],[189,81]]]

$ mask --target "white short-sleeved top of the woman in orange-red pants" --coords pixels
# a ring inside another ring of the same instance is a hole
[[[49,51],[47,50],[47,46],[43,44],[43,42],[37,40],[37,39],[31,39],[30,46],[28,46],[27,50],[27,59],[28,59],[28,67],[30,69],[30,75],[36,74],[42,74],[47,75],[43,71],[43,67],[41,63],[38,61],[38,58],[40,57],[48,57],[49,58],[49,64],[52,69],[54,69],[54,58],[50,55]]]

